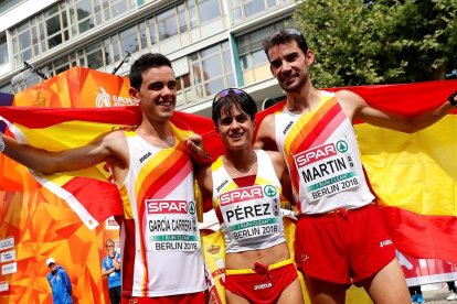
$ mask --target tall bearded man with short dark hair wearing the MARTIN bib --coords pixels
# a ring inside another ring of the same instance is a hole
[[[410,303],[352,121],[412,133],[453,110],[456,95],[407,118],[375,109],[350,90],[315,88],[309,74],[315,53],[296,29],[276,31],[264,50],[287,100],[262,121],[255,146],[279,150],[288,162],[299,216],[295,257],[312,302],[344,303],[346,290],[354,283],[375,303]]]

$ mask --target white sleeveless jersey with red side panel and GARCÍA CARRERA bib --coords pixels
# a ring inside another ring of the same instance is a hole
[[[126,131],[130,166],[120,188],[123,296],[206,289],[192,164],[183,144],[159,149]]]

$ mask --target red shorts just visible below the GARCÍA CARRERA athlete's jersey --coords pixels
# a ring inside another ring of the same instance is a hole
[[[208,295],[205,292],[176,294],[157,297],[147,296],[123,296],[121,304],[205,304]]]

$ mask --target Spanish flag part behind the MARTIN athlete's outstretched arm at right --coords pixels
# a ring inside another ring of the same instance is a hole
[[[457,80],[349,89],[373,106],[414,116],[443,104]],[[413,134],[355,124],[392,240],[411,257],[457,262],[456,128],[456,109]]]

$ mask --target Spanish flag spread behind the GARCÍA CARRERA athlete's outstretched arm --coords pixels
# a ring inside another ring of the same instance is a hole
[[[134,129],[141,120],[137,106],[99,109],[0,107],[0,116],[19,142],[50,151],[81,146],[113,130]],[[194,127],[190,128],[187,122]],[[210,126],[213,122],[208,118],[181,112],[177,112],[171,122],[172,131],[180,141],[193,132],[213,129]],[[189,154],[192,156],[190,151]],[[195,162],[202,161],[195,158]],[[89,229],[109,216],[124,215],[118,188],[113,183],[107,163],[53,175],[31,173],[40,184],[68,203]],[[13,189],[7,172],[3,175],[0,188]]]

